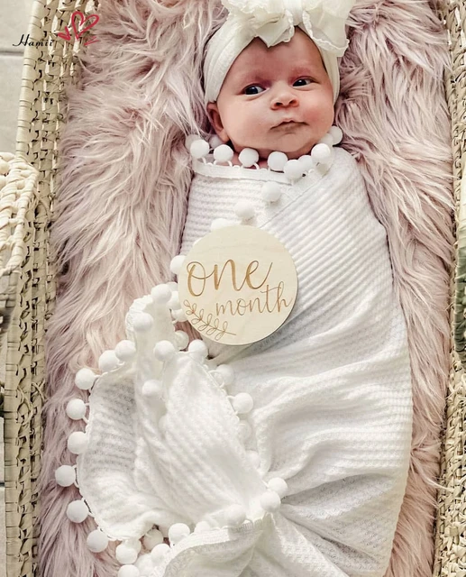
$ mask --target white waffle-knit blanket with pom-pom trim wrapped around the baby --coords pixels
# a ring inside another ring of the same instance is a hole
[[[297,268],[297,302],[278,331],[240,347],[206,339],[215,363],[233,367],[228,395],[254,400],[251,436],[242,440],[213,363],[185,352],[163,367],[153,360],[154,343],[174,342],[172,326],[150,298],[138,299],[128,336],[138,310],[155,325],[134,336],[135,361],[96,381],[78,457],[81,493],[99,527],[121,540],[152,524],[218,526],[185,537],[151,571],[141,565],[151,577],[382,577],[407,481],[410,365],[386,232],[357,164],[335,149],[326,175],[293,186],[267,169],[196,162],[195,170],[181,253],[213,219],[234,218],[244,198]],[[267,206],[260,188],[270,179],[283,194]],[[164,403],[142,396],[149,378],[162,380]],[[266,513],[259,499],[275,477],[288,494]],[[251,520],[224,527],[232,504]]]

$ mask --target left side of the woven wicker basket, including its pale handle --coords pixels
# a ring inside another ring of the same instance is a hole
[[[55,32],[65,30],[75,10],[92,14],[96,6],[80,0],[34,0],[24,50],[16,154],[14,158],[3,155],[11,167],[4,188],[0,180],[0,344],[6,357],[0,363],[5,366],[5,375],[0,372],[0,397],[5,417],[7,577],[38,574],[36,484],[44,398],[43,339],[55,300],[49,227],[59,168],[57,143],[66,113],[63,87],[76,76],[80,49],[78,41],[71,44]],[[14,185],[16,167],[23,188]]]

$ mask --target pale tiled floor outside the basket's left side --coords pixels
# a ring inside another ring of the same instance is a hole
[[[23,46],[34,0],[1,0],[0,19],[0,151],[14,152],[23,68]],[[0,355],[1,358],[1,355]],[[1,371],[0,371],[1,373]],[[5,577],[5,490],[3,419],[0,418],[0,577]]]

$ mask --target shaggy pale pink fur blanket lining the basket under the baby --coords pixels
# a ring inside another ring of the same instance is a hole
[[[67,437],[82,427],[65,407],[78,396],[76,371],[124,338],[132,300],[172,279],[192,176],[184,139],[209,130],[202,48],[224,18],[217,0],[103,0],[99,14],[99,41],[68,90],[51,231],[59,286],[46,343],[44,577],[114,577],[119,566],[111,550],[88,551],[91,518],[66,517],[78,490],[57,486],[54,471],[74,463]],[[387,575],[430,577],[453,250],[446,34],[425,0],[361,0],[349,38],[335,124],[388,230],[414,379],[412,461]]]

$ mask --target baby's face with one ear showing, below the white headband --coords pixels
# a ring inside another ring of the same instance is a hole
[[[332,126],[333,88],[315,43],[297,28],[289,42],[271,48],[251,41],[207,110],[217,135],[236,152],[248,147],[262,159],[272,151],[297,159]]]

